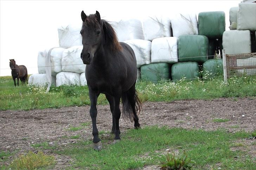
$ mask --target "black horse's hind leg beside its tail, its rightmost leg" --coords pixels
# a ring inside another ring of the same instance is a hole
[[[136,90],[135,90],[135,83],[134,85],[128,90],[128,100],[130,105],[132,106],[133,109],[133,120],[134,120],[134,128],[138,129],[140,127],[140,123],[139,123],[139,118],[137,116],[137,111],[136,111],[136,96],[135,96]]]

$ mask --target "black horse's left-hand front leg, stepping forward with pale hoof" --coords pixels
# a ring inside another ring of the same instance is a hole
[[[91,108],[90,108],[90,116],[92,121],[92,135],[93,135],[93,144],[95,150],[100,150],[102,148],[101,139],[98,137],[99,132],[96,125],[96,118],[97,118],[97,99],[98,99],[99,93],[95,93],[90,87],[89,87],[89,97],[91,101]]]

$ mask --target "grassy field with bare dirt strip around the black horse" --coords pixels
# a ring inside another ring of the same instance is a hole
[[[255,169],[255,77],[234,77],[227,84],[222,79],[140,82],[142,128],[134,130],[121,119],[117,144],[111,144],[111,113],[102,95],[101,151],[92,149],[87,87],[52,87],[45,94],[45,88],[9,87],[9,77],[0,83],[0,169],[19,169],[19,155],[29,151],[54,157],[37,169],[160,169],[167,150],[176,155],[185,150],[194,161],[191,169]]]

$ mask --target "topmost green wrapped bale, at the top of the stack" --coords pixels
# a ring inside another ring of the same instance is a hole
[[[223,11],[200,12],[198,14],[198,33],[208,38],[222,38],[225,31],[225,13]]]

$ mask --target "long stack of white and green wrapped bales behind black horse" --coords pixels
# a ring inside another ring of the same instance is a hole
[[[204,77],[214,77],[219,70],[223,71],[216,69],[222,68],[222,59],[213,59],[218,50],[222,52],[224,47],[229,54],[251,52],[250,31],[254,34],[256,31],[256,3],[247,5],[239,4],[238,8],[230,9],[230,24],[237,22],[237,30],[231,31],[225,31],[222,11],[201,12],[198,21],[196,14],[178,14],[171,18],[149,16],[142,21],[128,19],[111,24],[119,41],[130,45],[135,52],[137,79],[153,82],[184,77],[194,79],[199,77],[200,69]],[[234,11],[237,11],[237,20]],[[83,48],[80,29],[80,25],[58,28],[59,47],[53,48],[50,54],[53,85],[86,85],[85,65],[80,59]],[[30,76],[30,84],[47,83],[45,60],[48,51],[38,53],[39,74]]]

